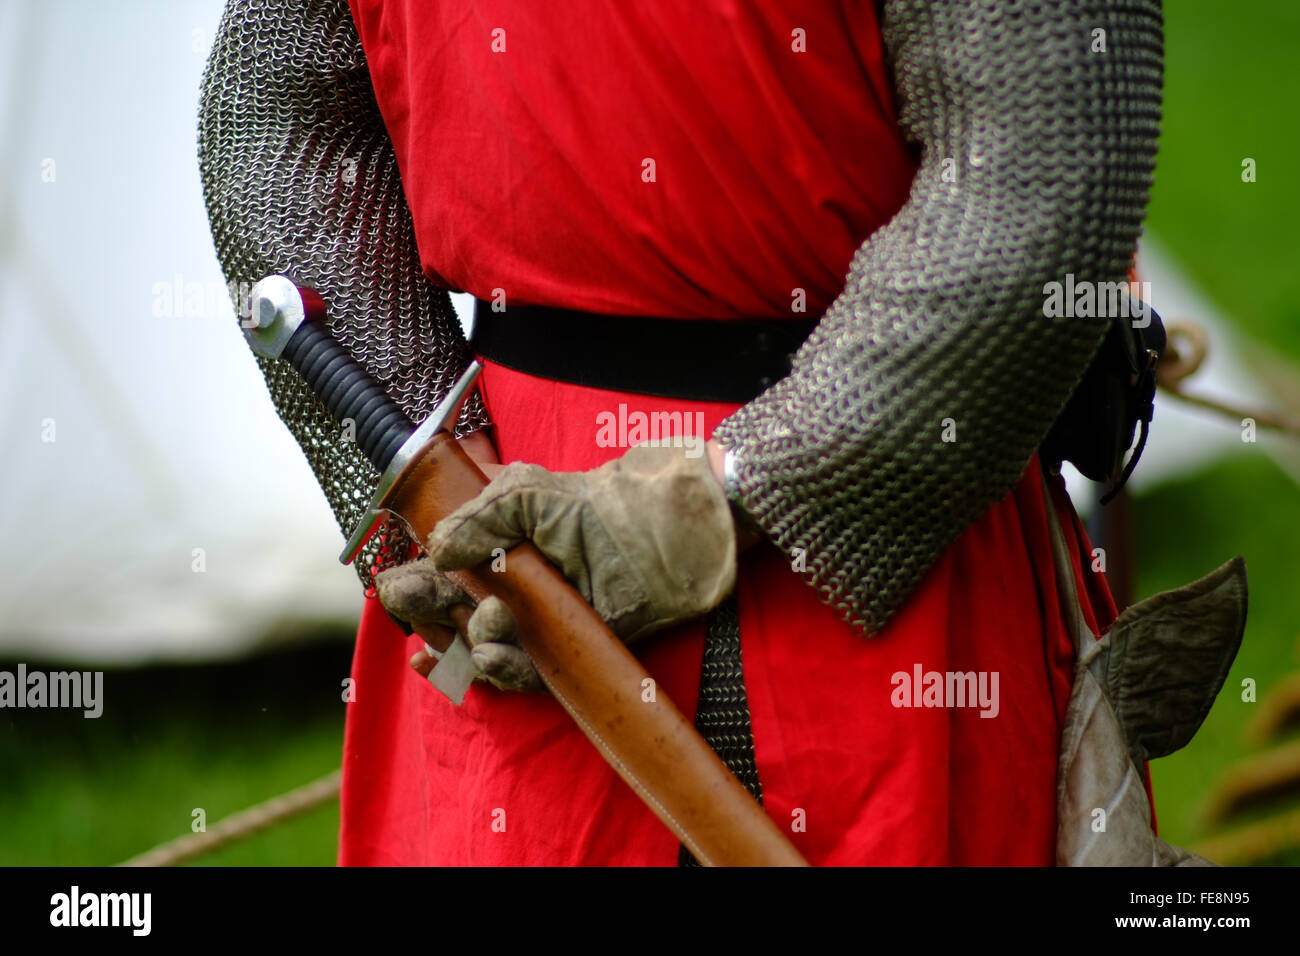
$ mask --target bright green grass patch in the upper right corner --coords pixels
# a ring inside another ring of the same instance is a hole
[[[1165,3],[1148,230],[1244,332],[1300,359],[1300,4]],[[1242,160],[1257,179],[1242,182]]]

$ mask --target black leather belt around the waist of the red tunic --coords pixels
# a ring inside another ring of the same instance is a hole
[[[744,403],[789,375],[814,323],[654,319],[477,299],[469,347],[541,378],[701,402]]]

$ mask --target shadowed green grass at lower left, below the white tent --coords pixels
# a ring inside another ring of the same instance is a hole
[[[0,711],[0,865],[122,862],[188,834],[195,808],[211,827],[335,770],[346,633],[233,665],[108,671],[98,719]],[[330,803],[195,862],[329,866],[337,845]]]

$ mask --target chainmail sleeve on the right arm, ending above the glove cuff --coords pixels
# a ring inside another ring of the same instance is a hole
[[[1124,280],[1162,81],[1157,0],[885,0],[883,36],[909,200],[715,433],[737,502],[870,633],[1015,486],[1100,346],[1106,320],[1045,317],[1044,286]]]

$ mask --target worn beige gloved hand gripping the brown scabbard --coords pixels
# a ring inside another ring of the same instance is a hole
[[[437,570],[473,567],[532,540],[629,643],[699,617],[736,585],[736,529],[707,459],[686,453],[638,445],[589,472],[510,464],[438,523],[425,562],[376,579],[380,598],[412,624],[446,627],[447,609],[469,598],[448,592]],[[502,602],[485,601],[467,630],[485,679],[507,689],[537,684]]]

